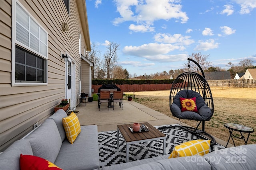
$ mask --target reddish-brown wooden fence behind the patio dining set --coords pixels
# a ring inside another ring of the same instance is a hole
[[[101,85],[92,85],[94,93],[98,92]],[[121,91],[124,92],[142,92],[142,91],[154,91],[154,90],[170,90],[172,84],[116,84]]]

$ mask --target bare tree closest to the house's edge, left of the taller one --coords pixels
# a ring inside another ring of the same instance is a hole
[[[98,71],[100,70],[100,50],[98,50],[98,46],[96,43],[92,43],[91,45],[91,51],[88,53],[88,58],[90,61],[92,61],[94,69],[92,69],[92,77],[98,78]],[[95,75],[96,72],[96,75]]]

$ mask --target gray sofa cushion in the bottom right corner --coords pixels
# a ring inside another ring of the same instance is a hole
[[[212,170],[255,170],[256,144],[241,145],[215,150],[203,157],[211,164]]]

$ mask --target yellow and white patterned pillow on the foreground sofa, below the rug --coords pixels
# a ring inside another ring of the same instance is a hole
[[[182,143],[174,147],[169,158],[207,154],[210,148],[210,140],[194,140]]]

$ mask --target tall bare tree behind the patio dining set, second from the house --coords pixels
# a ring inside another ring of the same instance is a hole
[[[108,47],[106,47],[107,51],[104,54],[104,61],[107,70],[107,78],[110,78],[110,74],[112,68],[114,67],[114,63],[117,61],[117,51],[120,44],[110,42],[108,43]]]

